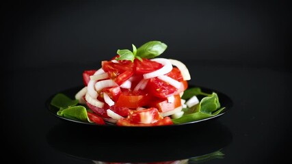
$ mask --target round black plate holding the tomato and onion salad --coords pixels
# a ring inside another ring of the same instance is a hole
[[[72,88],[69,88],[67,90],[63,90],[61,92],[57,92],[57,93],[66,94],[66,96],[68,96],[68,97],[73,99],[73,98],[75,98],[75,94],[77,94],[77,92],[79,92],[79,90],[81,90],[82,87],[83,86],[72,87]],[[207,122],[209,120],[214,120],[215,118],[218,118],[221,115],[224,115],[224,113],[226,113],[226,111],[228,111],[233,106],[233,101],[231,100],[231,98],[229,98],[226,94],[223,94],[222,92],[219,92],[217,90],[212,90],[212,89],[209,89],[207,87],[201,87],[201,86],[195,86],[195,85],[189,85],[189,88],[190,87],[200,87],[202,92],[207,92],[207,93],[216,92],[217,96],[220,99],[221,107],[225,107],[225,109],[222,110],[219,114],[217,114],[217,115],[215,115],[215,116],[213,116],[211,118],[205,118],[205,119],[197,120],[197,121],[194,121],[194,122],[186,122],[186,123],[183,123],[183,124],[173,124],[173,125],[167,125],[167,126],[150,126],[151,128],[159,128],[159,129],[161,129],[161,128],[170,128],[170,127],[175,127],[175,126],[187,126],[189,124],[198,124],[198,123],[201,123],[201,122]],[[122,129],[124,129],[124,128],[135,128],[135,129],[137,129],[137,128],[142,128],[142,129],[149,128],[148,126],[116,126],[116,125],[113,125],[113,124],[105,124],[105,125],[92,124],[92,123],[89,123],[89,122],[81,122],[81,121],[77,121],[77,120],[70,120],[68,118],[63,118],[63,117],[57,115],[57,111],[59,111],[59,109],[57,109],[56,107],[53,107],[53,105],[50,104],[53,96],[55,96],[55,94],[53,94],[52,96],[50,96],[47,99],[46,107],[47,107],[47,109],[49,109],[50,113],[55,115],[55,117],[60,118],[61,120],[65,120],[67,122],[72,122],[72,123],[78,123],[78,124],[86,124],[86,125],[91,125],[91,126],[110,127],[110,128],[115,128],[115,127],[122,128]]]

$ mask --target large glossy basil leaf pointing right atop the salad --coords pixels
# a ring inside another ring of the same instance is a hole
[[[146,42],[137,49],[136,56],[144,57],[147,59],[157,57],[165,51],[168,46],[163,42],[159,41],[150,41]]]

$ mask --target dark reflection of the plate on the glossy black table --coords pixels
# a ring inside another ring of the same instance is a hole
[[[202,163],[222,158],[222,148],[232,140],[217,120],[161,128],[102,127],[57,124],[47,139],[60,152],[94,163]]]

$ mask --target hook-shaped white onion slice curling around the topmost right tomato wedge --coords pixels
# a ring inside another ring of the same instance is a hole
[[[151,60],[152,61],[157,61],[158,63],[162,64],[163,67],[159,68],[158,70],[155,70],[153,72],[149,72],[149,73],[143,74],[144,79],[150,79],[152,77],[158,77],[158,76],[161,76],[163,74],[167,74],[168,72],[170,72],[172,70],[172,63],[168,59],[155,58],[155,59],[151,59]]]

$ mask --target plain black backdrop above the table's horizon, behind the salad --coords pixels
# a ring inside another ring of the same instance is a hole
[[[14,1],[3,5],[8,68],[98,64],[150,40],[196,64],[287,68],[286,1]]]

